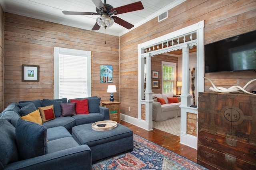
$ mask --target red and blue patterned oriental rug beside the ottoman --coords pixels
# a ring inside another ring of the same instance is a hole
[[[134,148],[99,160],[92,170],[207,170],[203,166],[134,134]]]

